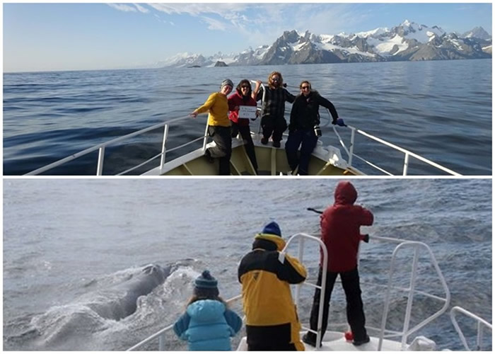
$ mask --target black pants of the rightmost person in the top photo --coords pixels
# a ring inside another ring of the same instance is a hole
[[[289,138],[285,143],[285,152],[292,171],[299,166],[298,173],[301,176],[308,175],[309,161],[311,153],[315,149],[316,142],[318,142],[318,137],[315,135],[313,129],[289,132]],[[301,147],[301,157],[298,159],[297,151],[299,147]]]

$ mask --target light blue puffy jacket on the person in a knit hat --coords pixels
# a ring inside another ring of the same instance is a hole
[[[230,337],[242,324],[238,314],[222,302],[206,299],[190,304],[173,329],[189,343],[189,350],[231,350]]]

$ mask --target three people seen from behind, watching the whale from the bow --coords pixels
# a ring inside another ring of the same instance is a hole
[[[339,276],[347,300],[347,321],[352,344],[370,341],[365,328],[358,270],[359,243],[366,239],[361,226],[373,224],[373,214],[355,205],[354,185],[341,181],[334,190],[334,203],[322,212],[321,239],[328,254],[321,336],[327,331],[330,297]],[[242,286],[243,312],[248,350],[305,350],[317,346],[320,288],[323,260],[310,313],[310,331],[300,337],[301,323],[291,295],[291,284],[304,282],[307,271],[298,258],[281,253],[286,246],[281,229],[269,222],[255,235],[252,250],[240,261],[238,281]],[[323,257],[323,256],[321,256]],[[175,333],[188,341],[190,350],[231,350],[230,337],[242,326],[238,314],[219,297],[218,282],[208,271],[194,282],[194,296],[174,326]],[[348,338],[349,339],[349,338]],[[349,339],[350,340],[350,339]]]

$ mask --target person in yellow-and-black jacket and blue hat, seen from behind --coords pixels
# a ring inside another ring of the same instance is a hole
[[[304,350],[290,285],[303,282],[306,270],[297,258],[279,260],[285,244],[279,225],[270,222],[240,261],[248,350]]]

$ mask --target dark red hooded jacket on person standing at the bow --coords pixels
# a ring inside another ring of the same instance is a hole
[[[335,188],[335,202],[321,216],[322,241],[327,246],[327,270],[347,272],[357,267],[357,256],[362,225],[373,224],[373,214],[354,205],[358,193],[350,182],[339,182]],[[320,258],[323,264],[323,256]]]

